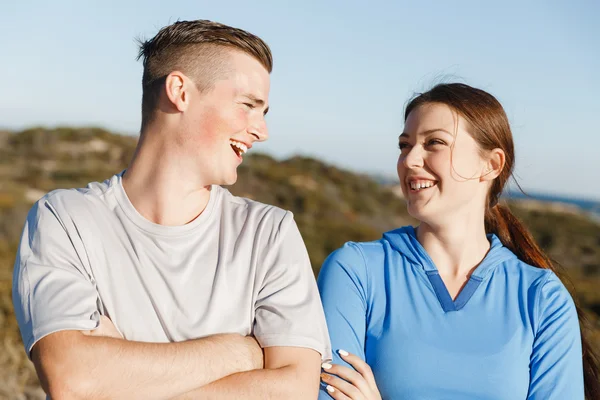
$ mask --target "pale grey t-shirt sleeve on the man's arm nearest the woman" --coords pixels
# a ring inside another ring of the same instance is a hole
[[[331,359],[321,299],[308,252],[287,212],[266,239],[264,278],[255,302],[253,334],[262,347],[305,347]]]

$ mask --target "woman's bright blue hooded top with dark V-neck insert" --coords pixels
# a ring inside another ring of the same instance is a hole
[[[339,349],[361,357],[383,399],[584,399],[569,292],[488,240],[455,300],[411,226],[332,253],[318,285],[333,362],[348,365]]]

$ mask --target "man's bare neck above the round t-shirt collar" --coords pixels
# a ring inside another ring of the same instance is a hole
[[[123,176],[123,188],[135,209],[160,225],[185,225],[206,208],[210,188],[162,138],[144,134]],[[171,142],[172,143],[172,142]]]

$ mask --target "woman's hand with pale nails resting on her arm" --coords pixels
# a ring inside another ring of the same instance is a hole
[[[324,363],[321,380],[327,384],[327,392],[336,400],[381,400],[371,367],[354,354],[344,350],[340,356],[354,369],[343,365]]]

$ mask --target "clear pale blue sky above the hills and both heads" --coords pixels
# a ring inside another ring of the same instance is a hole
[[[256,149],[394,176],[407,99],[460,80],[505,106],[525,189],[600,199],[595,0],[5,3],[5,128],[137,134],[134,39],[176,20],[212,19],[259,35],[273,51],[271,138]]]

